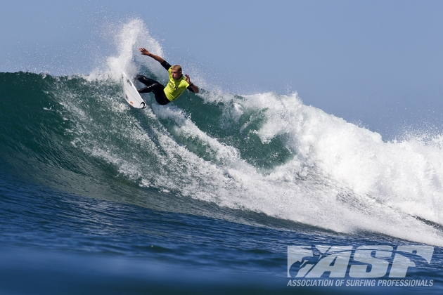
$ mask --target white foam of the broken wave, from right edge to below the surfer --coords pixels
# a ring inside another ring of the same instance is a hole
[[[249,110],[266,108],[268,120],[258,131],[260,138],[266,143],[288,133],[287,144],[296,157],[270,173],[259,173],[235,147],[207,136],[180,110],[155,107],[158,117],[174,122],[175,133],[201,140],[229,159],[203,161],[164,133],[161,146],[167,151],[170,177],[156,183],[219,206],[331,230],[368,230],[442,244],[439,230],[413,217],[442,223],[437,209],[443,175],[437,168],[442,163],[429,166],[441,155],[439,147],[413,140],[385,143],[377,133],[303,105],[296,95],[264,93],[236,104]]]

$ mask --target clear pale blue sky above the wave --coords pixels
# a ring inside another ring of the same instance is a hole
[[[0,72],[87,74],[113,52],[103,25],[141,18],[225,91],[297,91],[387,139],[443,131],[443,1],[3,2]]]

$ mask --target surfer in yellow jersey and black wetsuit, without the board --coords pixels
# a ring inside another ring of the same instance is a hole
[[[189,75],[185,74],[183,76],[183,74],[181,74],[181,67],[179,65],[171,66],[166,60],[160,58],[158,55],[150,53],[145,48],[139,48],[139,51],[141,54],[148,55],[150,58],[157,60],[169,73],[169,81],[167,82],[166,87],[158,83],[158,81],[138,74],[136,79],[146,85],[145,88],[139,89],[139,93],[152,91],[155,100],[157,100],[159,105],[166,105],[167,103],[172,102],[172,100],[178,98],[186,89],[198,93],[198,87],[191,82]]]

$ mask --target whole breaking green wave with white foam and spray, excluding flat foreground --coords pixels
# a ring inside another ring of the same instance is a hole
[[[225,93],[198,72],[198,95],[160,106],[148,94],[148,107],[136,110],[122,97],[120,74],[165,82],[166,71],[137,50],[162,48],[140,20],[115,36],[118,54],[89,75],[0,73],[3,171],[165,211],[217,216],[226,208],[443,245],[442,136],[386,142],[297,93]],[[156,197],[147,200],[146,190]],[[216,206],[177,208],[171,195]]]

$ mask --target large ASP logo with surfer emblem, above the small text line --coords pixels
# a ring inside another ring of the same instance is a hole
[[[392,246],[288,246],[288,277],[405,277],[416,262],[431,262],[434,247],[425,245]],[[352,261],[352,262],[351,262]],[[414,262],[416,261],[416,262]],[[351,263],[350,263],[351,262]]]

